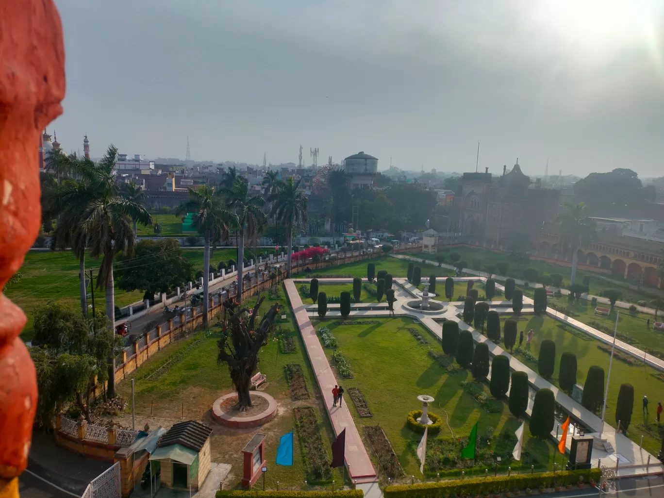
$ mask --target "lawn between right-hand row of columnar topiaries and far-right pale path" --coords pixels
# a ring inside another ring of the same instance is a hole
[[[621,313],[622,314],[622,313]],[[501,317],[505,321],[508,317]],[[519,319],[519,331],[524,334],[530,329],[535,331],[535,337],[531,343],[531,354],[537,357],[539,355],[540,344],[544,339],[550,339],[556,343],[556,369],[550,382],[558,386],[558,369],[560,367],[560,355],[564,351],[576,354],[578,371],[576,380],[580,384],[586,382],[586,374],[591,365],[599,365],[604,369],[605,375],[609,368],[609,355],[598,348],[602,344],[596,339],[580,332],[571,332],[572,327],[564,325],[551,317],[537,315],[521,315]],[[517,339],[518,341],[518,339]],[[523,342],[523,349],[526,349],[526,341]],[[525,359],[518,349],[514,351],[515,357],[522,363],[537,372],[537,363]],[[625,361],[614,357],[614,363],[611,371],[611,380],[609,385],[608,402],[606,404],[606,422],[614,428],[618,426],[616,421],[616,400],[618,399],[618,390],[620,384],[626,383],[634,386],[634,411],[632,414],[631,425],[627,435],[634,442],[639,442],[643,434],[643,447],[653,455],[659,452],[661,439],[657,435],[657,424],[655,422],[655,410],[657,402],[664,400],[664,375],[643,363],[634,360],[634,365],[628,365]],[[606,378],[605,378],[606,380]],[[650,400],[650,415],[645,415],[641,410],[641,398],[648,396]]]

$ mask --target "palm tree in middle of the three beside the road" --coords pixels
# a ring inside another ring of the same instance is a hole
[[[258,236],[266,222],[263,210],[265,199],[260,195],[252,195],[249,184],[242,177],[236,177],[232,188],[223,191],[226,205],[231,208],[236,218],[238,230],[238,292],[237,300],[242,301],[242,267],[244,266],[244,239]]]

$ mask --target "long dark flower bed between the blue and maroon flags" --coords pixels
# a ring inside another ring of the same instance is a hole
[[[302,460],[311,484],[325,483],[332,479],[330,461],[321,438],[316,412],[311,406],[293,408],[297,438],[303,447]]]

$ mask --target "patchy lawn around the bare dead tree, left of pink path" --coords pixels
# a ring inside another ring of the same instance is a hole
[[[283,296],[283,290],[280,290],[280,296]],[[277,296],[274,296],[277,297]],[[285,299],[277,297],[280,303],[285,303]],[[263,303],[260,314],[264,313],[274,303],[274,299],[267,299]],[[247,300],[244,305],[252,306],[255,299]],[[293,328],[292,313],[290,309],[284,311],[289,316],[288,321],[279,323],[282,327]],[[228,430],[221,428],[210,416],[210,407],[212,402],[222,394],[232,392],[233,386],[228,373],[228,367],[225,364],[218,364],[216,357],[218,354],[217,341],[219,340],[219,327],[212,327],[212,334],[205,335],[203,332],[197,333],[193,338],[169,345],[159,353],[153,355],[140,369],[135,372],[135,400],[137,416],[149,416],[151,410],[156,418],[163,418],[169,424],[181,420],[181,414],[184,407],[185,420],[195,419],[210,425],[214,432],[210,446],[212,448],[212,461],[219,463],[232,464],[231,477],[224,482],[224,489],[229,487],[240,488],[240,479],[242,479],[242,448],[246,445],[252,436],[252,432],[245,430]],[[276,489],[277,481],[280,481],[282,489],[288,487],[291,483],[293,489],[305,489],[304,481],[307,479],[305,468],[303,466],[303,456],[301,446],[297,436],[295,436],[295,448],[293,451],[293,466],[282,467],[274,465],[276,452],[279,446],[280,436],[290,432],[294,428],[294,418],[292,408],[295,406],[313,406],[319,426],[322,431],[323,442],[327,450],[328,457],[331,459],[331,442],[333,441],[333,431],[327,416],[323,416],[321,406],[317,402],[317,387],[313,377],[313,371],[309,365],[304,352],[304,345],[299,334],[293,335],[296,351],[294,353],[283,353],[279,350],[278,341],[271,337],[268,344],[262,347],[260,351],[260,363],[258,370],[266,374],[266,388],[264,392],[271,394],[277,400],[280,408],[278,416],[268,424],[260,428],[260,432],[267,434],[266,440],[266,459],[270,471],[266,474],[266,488]],[[181,361],[175,363],[170,369],[161,374],[158,378],[145,380],[147,373],[154,371],[165,363],[170,357],[173,357],[177,351],[187,347],[188,343],[200,341],[192,349],[185,349],[186,353]],[[297,402],[291,401],[290,390],[286,382],[284,367],[288,364],[299,364],[302,367],[305,376],[305,382],[311,398]],[[123,380],[118,385],[118,394],[125,399],[131,397],[131,381],[129,378]],[[128,408],[127,411],[131,411]],[[254,430],[254,432],[256,432]],[[340,483],[343,476],[338,469],[334,469],[333,479]],[[331,484],[326,486],[331,488]],[[311,489],[309,487],[308,489]]]

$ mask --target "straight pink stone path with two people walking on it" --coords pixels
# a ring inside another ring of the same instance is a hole
[[[350,396],[344,397],[341,408],[332,406],[332,389],[335,384],[338,384],[337,379],[327,361],[325,351],[318,340],[316,331],[307,316],[307,309],[304,307],[301,297],[299,297],[299,293],[295,288],[295,282],[292,279],[288,279],[284,281],[284,284],[286,285],[288,299],[290,299],[293,312],[295,313],[297,326],[307,349],[311,367],[313,367],[318,386],[323,393],[325,410],[327,410],[327,414],[332,421],[334,432],[335,434],[339,434],[342,430],[346,430],[345,459],[351,479],[357,483],[378,481],[376,471],[371,464],[371,459],[367,454],[367,450],[365,450],[365,445],[362,442],[359,432],[357,432],[355,422],[353,422],[353,416],[351,416],[351,412],[349,412],[347,407],[347,401],[350,400]]]

